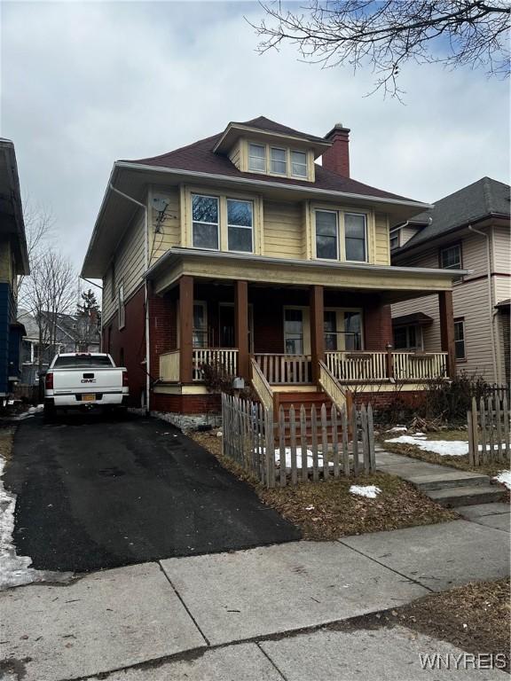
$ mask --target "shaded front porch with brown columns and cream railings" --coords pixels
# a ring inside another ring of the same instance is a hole
[[[386,293],[182,276],[161,301],[169,333],[158,343],[158,385],[198,386],[205,365],[275,389],[322,387],[322,372],[344,387],[452,376],[450,291],[438,292],[436,353],[392,347]]]

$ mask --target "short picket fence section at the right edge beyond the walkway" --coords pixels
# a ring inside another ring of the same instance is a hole
[[[509,459],[511,441],[509,424],[511,413],[507,394],[483,399],[479,404],[472,399],[467,412],[468,461],[472,466],[482,466],[489,461],[505,462]]]

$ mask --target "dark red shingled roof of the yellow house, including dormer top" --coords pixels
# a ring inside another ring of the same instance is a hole
[[[287,126],[280,125],[275,121],[270,121],[263,116],[240,124],[252,128],[268,130],[270,132],[279,132],[281,134],[294,135],[295,137],[303,137],[304,139],[320,139],[319,137],[306,135],[303,132],[287,128]],[[316,180],[314,183],[289,177],[262,176],[260,173],[242,173],[226,156],[213,152],[213,148],[223,134],[224,131],[213,135],[212,137],[200,139],[198,142],[193,142],[192,145],[182,146],[173,152],[162,153],[159,156],[152,156],[148,159],[129,160],[128,162],[153,166],[154,168],[175,168],[177,170],[190,170],[210,175],[223,175],[232,179],[244,177],[258,182],[263,180],[264,182],[289,184],[297,187],[313,186],[316,189],[323,189],[326,192],[346,192],[350,194],[360,194],[362,196],[373,196],[380,199],[411,200],[406,199],[404,196],[399,196],[398,194],[376,189],[368,184],[353,180],[350,177],[337,175],[337,173],[326,170],[326,168],[318,165],[316,165]]]

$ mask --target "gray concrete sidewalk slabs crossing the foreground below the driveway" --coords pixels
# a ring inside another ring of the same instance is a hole
[[[0,678],[67,681],[108,672],[115,672],[111,681],[434,678],[421,670],[419,653],[455,653],[452,646],[398,628],[321,627],[508,575],[508,544],[499,529],[453,521],[163,560],[68,585],[4,591]],[[497,671],[452,674],[505,678]]]

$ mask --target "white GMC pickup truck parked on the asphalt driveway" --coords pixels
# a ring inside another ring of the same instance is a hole
[[[44,379],[44,417],[57,409],[104,410],[125,406],[130,395],[128,372],[106,353],[69,352],[56,355]]]

